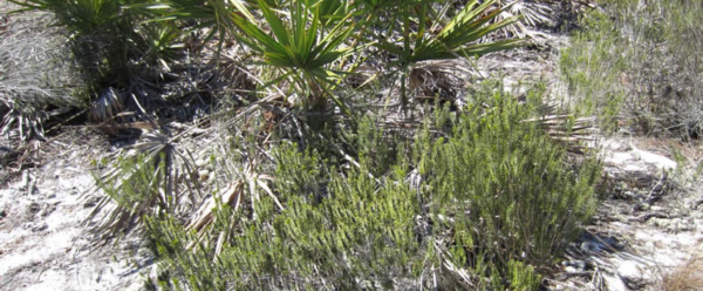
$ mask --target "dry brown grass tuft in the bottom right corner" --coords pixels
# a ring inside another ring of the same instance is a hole
[[[695,254],[662,278],[664,291],[703,290],[703,254]]]

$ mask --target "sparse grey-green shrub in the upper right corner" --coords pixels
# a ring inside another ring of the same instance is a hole
[[[703,6],[685,1],[603,1],[562,51],[562,76],[585,112],[613,129],[695,138],[703,129]],[[622,109],[622,110],[621,110]]]

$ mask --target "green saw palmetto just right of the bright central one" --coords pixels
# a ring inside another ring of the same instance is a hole
[[[452,18],[444,20],[449,4],[436,10],[432,2],[420,1],[413,6],[400,8],[397,21],[398,38],[386,38],[373,34],[375,46],[392,53],[397,60],[390,63],[401,72],[401,93],[406,96],[407,78],[417,77],[420,71],[414,70],[416,63],[428,60],[449,60],[476,58],[487,53],[503,51],[524,45],[523,39],[504,39],[479,43],[479,39],[517,22],[517,17],[498,19],[510,6],[496,8],[496,1],[469,1]],[[437,75],[438,79],[445,76]],[[446,78],[450,78],[446,76]],[[416,78],[414,79],[416,81]],[[417,85],[418,82],[413,84]],[[433,82],[430,82],[433,83]],[[436,83],[436,82],[434,82]],[[416,89],[413,88],[413,89]]]

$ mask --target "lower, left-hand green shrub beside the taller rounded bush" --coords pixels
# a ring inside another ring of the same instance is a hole
[[[421,264],[413,233],[418,203],[408,186],[379,183],[363,169],[351,170],[344,176],[333,176],[328,193],[311,202],[308,197],[315,191],[300,182],[321,182],[316,172],[305,168],[322,161],[285,148],[280,155],[288,156],[282,161],[297,160],[303,166],[294,174],[285,170],[290,164],[280,165],[285,172],[278,172],[276,180],[285,185],[279,189],[286,201],[285,210],[276,212],[271,200],[262,198],[255,219],[235,216],[240,231],[224,245],[212,267],[204,267],[211,260],[207,254],[212,252],[207,242],[192,257],[181,254],[188,252],[182,245],[172,254],[178,242],[187,240],[187,233],[181,231],[174,238],[165,232],[178,233],[179,227],[169,221],[150,224],[158,252],[169,267],[181,271],[179,278],[188,278],[189,287],[318,289],[328,284],[347,289],[379,288],[392,286],[398,278],[418,275],[413,273]],[[394,176],[399,180],[404,172],[396,169]],[[231,209],[224,207],[221,212]],[[227,221],[222,222],[215,226],[216,233],[228,227]],[[217,272],[207,273],[209,269]]]

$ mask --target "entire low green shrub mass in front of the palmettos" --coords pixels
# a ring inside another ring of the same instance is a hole
[[[593,214],[600,167],[569,166],[562,145],[524,122],[538,114],[535,93],[524,105],[500,93],[476,98],[457,118],[438,109],[412,154],[373,119],[344,134],[353,167],[283,143],[273,155],[283,209],[271,196],[252,195],[251,209],[221,205],[204,236],[149,220],[171,276],[162,284],[394,289],[432,287],[436,276],[444,288],[535,290]],[[383,141],[399,144],[397,157]],[[456,269],[439,271],[448,265]]]

